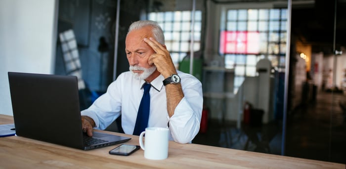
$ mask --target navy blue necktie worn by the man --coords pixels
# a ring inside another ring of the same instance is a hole
[[[136,125],[134,126],[133,135],[139,135],[148,126],[149,110],[150,110],[150,95],[149,89],[151,85],[144,83],[144,93],[139,104]]]

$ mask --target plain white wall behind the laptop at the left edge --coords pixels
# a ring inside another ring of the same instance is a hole
[[[52,74],[56,0],[0,0],[0,114],[13,115],[7,72]]]

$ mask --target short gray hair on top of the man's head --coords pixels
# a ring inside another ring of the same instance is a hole
[[[133,30],[138,30],[141,28],[144,28],[146,26],[151,26],[152,30],[151,33],[154,36],[154,39],[161,43],[161,44],[165,44],[165,36],[164,36],[164,32],[162,31],[160,25],[155,22],[155,21],[151,21],[151,20],[140,20],[140,21],[136,21],[133,22],[130,27],[129,27],[129,32],[128,34],[133,31]]]

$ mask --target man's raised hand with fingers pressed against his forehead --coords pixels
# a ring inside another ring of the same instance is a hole
[[[148,63],[150,65],[155,64],[157,70],[162,76],[164,76],[164,78],[168,78],[172,74],[176,74],[171,54],[166,49],[166,46],[160,44],[153,38],[144,38],[144,42],[148,43],[150,47],[156,52],[149,57]]]

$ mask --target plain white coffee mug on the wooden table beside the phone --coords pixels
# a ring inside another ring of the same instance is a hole
[[[145,144],[143,135],[145,134]],[[139,145],[144,150],[144,157],[150,160],[164,160],[168,157],[168,138],[170,129],[164,127],[147,127],[139,134]]]

